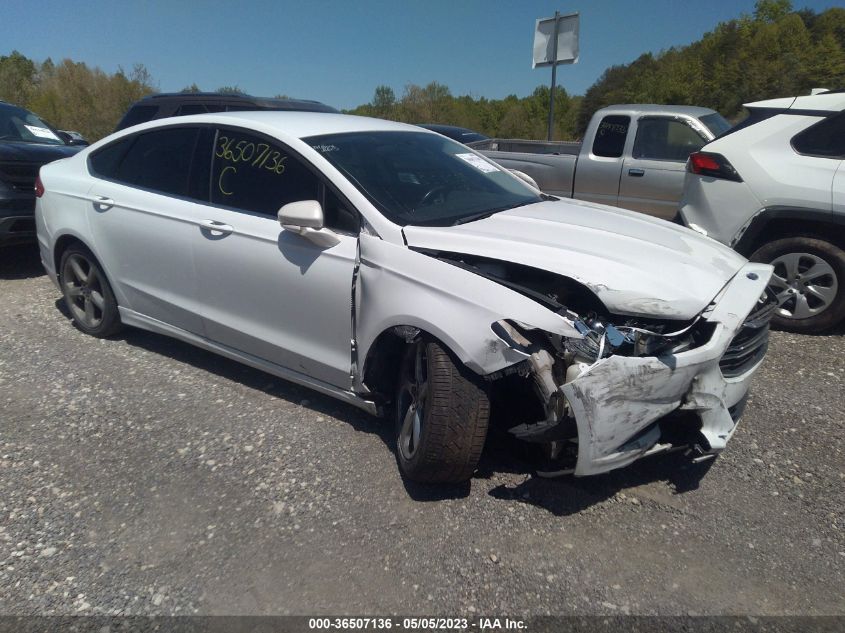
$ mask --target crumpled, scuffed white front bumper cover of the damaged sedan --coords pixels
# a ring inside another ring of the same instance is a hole
[[[678,409],[701,418],[706,452],[725,448],[736,429],[730,409],[745,398],[762,358],[730,378],[719,361],[771,272],[748,263],[734,276],[702,315],[715,325],[704,345],[659,358],[610,356],[560,387],[578,426],[575,475],[607,472],[654,452],[661,436],[656,422]]]

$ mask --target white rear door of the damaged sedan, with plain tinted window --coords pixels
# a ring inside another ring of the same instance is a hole
[[[94,248],[121,307],[195,334],[202,320],[191,238],[204,205],[194,199],[192,157],[200,132],[166,127],[94,152],[87,200]]]

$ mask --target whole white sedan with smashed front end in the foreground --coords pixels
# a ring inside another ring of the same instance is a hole
[[[716,454],[767,347],[770,266],[412,126],[165,119],[36,190],[81,330],[152,330],[395,418],[414,480],[472,475],[491,402],[576,475]]]

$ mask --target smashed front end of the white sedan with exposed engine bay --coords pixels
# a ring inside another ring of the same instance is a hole
[[[725,448],[768,344],[770,267],[746,264],[706,309],[678,322],[609,314],[589,290],[544,271],[438,258],[534,298],[580,335],[513,319],[491,324],[524,355],[487,376],[493,389],[514,376],[530,381],[542,410],[509,430],[545,445],[555,470],[593,475],[660,452],[685,448],[705,458]]]

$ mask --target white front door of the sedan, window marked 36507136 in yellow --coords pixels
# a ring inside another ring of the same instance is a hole
[[[357,214],[298,155],[237,128],[215,131],[208,223],[192,243],[206,336],[325,383],[351,385]],[[286,203],[319,200],[338,243],[282,229]]]

